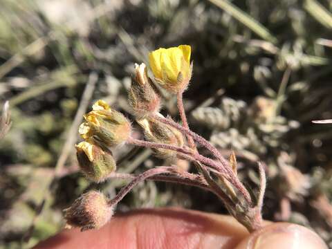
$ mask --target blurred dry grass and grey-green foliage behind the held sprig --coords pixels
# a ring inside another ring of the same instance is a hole
[[[55,234],[86,190],[120,189],[78,172],[77,125],[100,98],[130,116],[133,64],[178,44],[192,46],[192,129],[225,156],[236,151],[249,187],[257,160],[266,163],[264,219],[306,225],[332,247],[332,127],[311,123],[332,118],[331,31],[327,0],[2,0],[0,93],[12,126],[0,143],[0,248]],[[122,147],[116,158],[119,172],[167,165],[148,149]],[[151,181],[118,212],[165,205],[225,213],[213,194]]]

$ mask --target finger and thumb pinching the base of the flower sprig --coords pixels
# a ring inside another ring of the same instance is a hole
[[[327,248],[315,232],[266,223],[249,234],[230,216],[177,208],[117,214],[100,230],[64,230],[35,248]]]

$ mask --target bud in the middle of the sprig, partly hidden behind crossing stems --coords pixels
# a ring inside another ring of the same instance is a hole
[[[167,124],[163,124],[153,118],[144,118],[137,121],[138,124],[144,129],[145,138],[150,142],[158,142],[167,145],[174,145],[182,147],[184,144],[183,134],[169,127]],[[176,156],[176,151],[169,149],[153,149],[157,156],[160,158],[170,158]]]

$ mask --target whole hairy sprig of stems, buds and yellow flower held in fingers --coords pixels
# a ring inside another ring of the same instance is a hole
[[[129,104],[131,113],[142,128],[145,140],[131,137],[129,120],[102,100],[95,102],[92,111],[84,115],[84,122],[79,128],[84,141],[76,145],[77,160],[82,172],[95,182],[118,177],[129,178],[131,182],[113,199],[107,199],[99,192],[83,194],[66,210],[68,225],[80,227],[82,230],[100,228],[111,218],[117,203],[135,185],[148,179],[182,183],[213,192],[225,203],[230,214],[249,231],[261,227],[261,206],[266,181],[263,167],[259,166],[259,191],[253,194],[239,181],[235,154],[232,154],[230,160],[226,160],[210,142],[189,128],[183,107],[183,92],[187,89],[192,75],[190,55],[191,48],[187,45],[159,48],[151,52],[149,64],[154,75],[153,80],[149,78],[145,64],[135,64],[129,89]],[[154,84],[176,94],[181,123],[159,113],[160,96]],[[124,143],[150,148],[160,158],[188,160],[195,165],[196,172],[178,170],[171,165],[154,167],[138,175],[116,173],[116,161],[111,149]],[[201,155],[197,144],[210,151],[211,156]],[[255,201],[252,201],[253,199]]]

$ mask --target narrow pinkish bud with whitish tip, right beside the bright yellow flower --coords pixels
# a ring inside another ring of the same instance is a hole
[[[154,89],[144,63],[135,64],[135,77],[129,89],[129,104],[137,118],[145,118],[160,109],[160,97]]]

